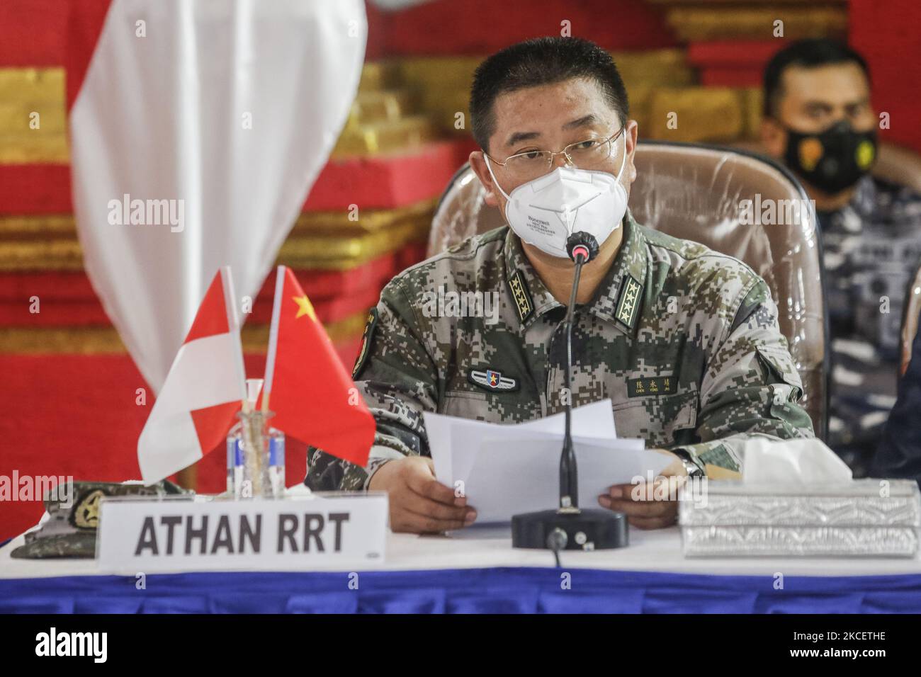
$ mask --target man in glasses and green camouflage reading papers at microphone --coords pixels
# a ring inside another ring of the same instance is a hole
[[[605,58],[600,74],[573,71]],[[495,101],[484,96],[491,78],[501,83],[514,70],[509,59],[532,60],[528,77],[536,80],[495,88],[501,92]],[[504,121],[509,129],[540,127],[528,118],[543,114],[547,145],[563,147],[610,136],[621,117],[633,181],[636,124],[626,122],[623,83],[613,103],[598,84],[603,78],[616,84],[615,75],[610,56],[587,41],[542,39],[509,48],[477,72],[474,135],[501,157],[521,146],[517,138],[502,142]],[[558,105],[541,112],[546,100]],[[478,129],[476,121],[490,114],[484,107],[492,111],[494,104],[495,129]],[[515,120],[509,111],[524,117]],[[624,152],[612,152],[605,167],[615,173],[623,158]],[[487,201],[499,204],[483,154],[472,154],[471,161],[489,191]],[[471,523],[475,509],[432,473],[422,414],[521,423],[563,411],[562,320],[572,271],[570,261],[548,260],[505,227],[394,278],[371,311],[354,371],[378,423],[370,460],[361,468],[312,450],[309,487],[388,491],[394,531]],[[460,299],[467,301],[465,311]],[[669,449],[675,455],[669,473],[738,476],[742,447],[752,436],[812,434],[776,315],[764,281],[744,263],[644,228],[627,213],[583,269],[573,325],[572,404],[610,398],[618,436]],[[643,528],[674,521],[673,501],[636,501],[629,487],[612,487],[600,504],[624,510]]]

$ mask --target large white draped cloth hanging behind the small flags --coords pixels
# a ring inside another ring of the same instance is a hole
[[[70,112],[76,224],[156,391],[220,266],[241,297],[258,292],[342,130],[366,40],[362,0],[112,0]]]

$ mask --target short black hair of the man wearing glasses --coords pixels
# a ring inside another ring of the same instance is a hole
[[[621,124],[626,123],[630,113],[627,90],[611,54],[582,38],[535,38],[496,52],[477,67],[470,91],[476,143],[489,150],[489,137],[495,132],[493,103],[500,94],[574,77],[597,82]]]

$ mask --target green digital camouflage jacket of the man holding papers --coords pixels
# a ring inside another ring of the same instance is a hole
[[[565,307],[507,228],[394,278],[369,314],[354,378],[378,424],[367,467],[309,450],[315,490],[367,489],[430,455],[422,413],[521,423],[563,411]],[[764,281],[744,263],[624,219],[624,241],[573,327],[574,406],[610,398],[618,437],[739,473],[746,439],[812,437]]]

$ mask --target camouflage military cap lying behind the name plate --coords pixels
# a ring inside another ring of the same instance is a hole
[[[10,553],[20,559],[95,557],[99,526],[99,500],[103,496],[192,495],[169,480],[157,484],[67,482],[45,494],[48,519],[26,534],[26,543]]]

